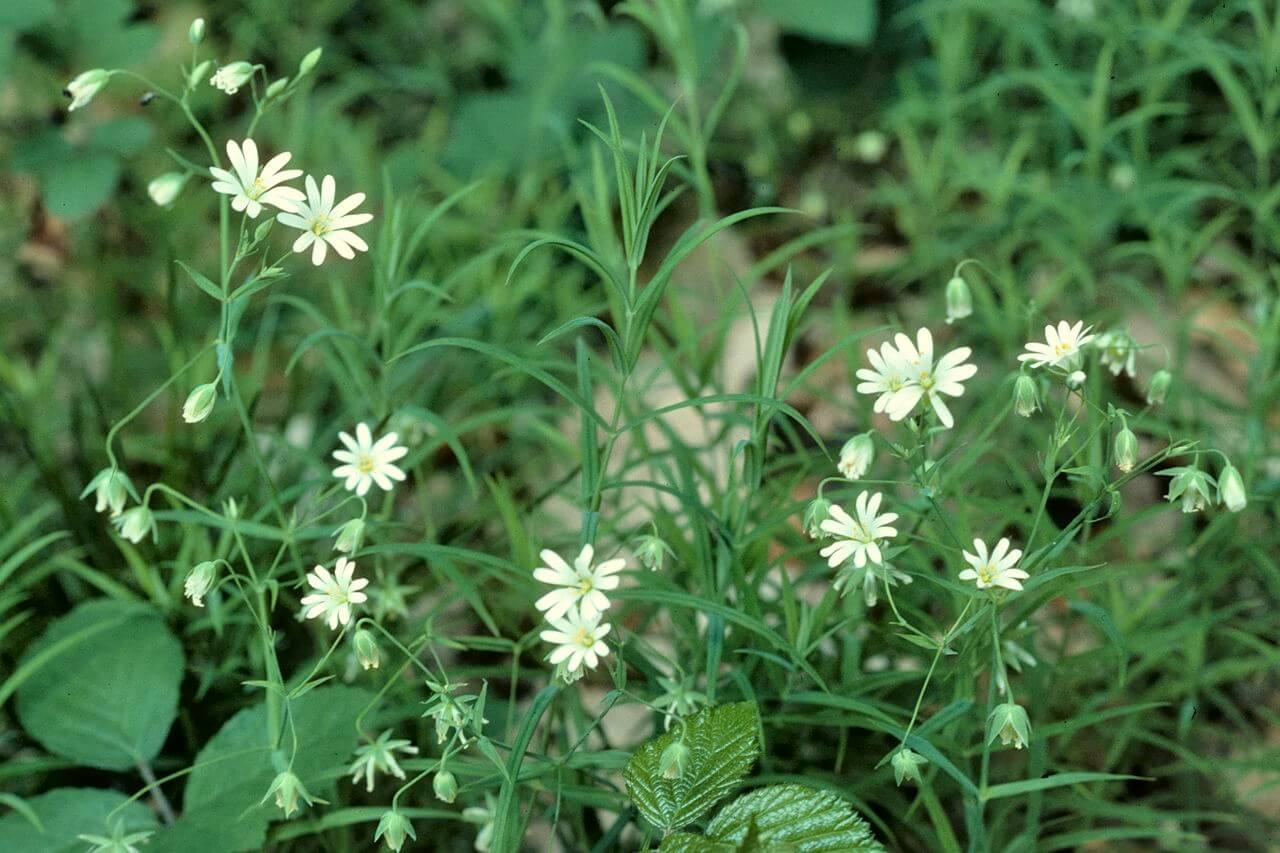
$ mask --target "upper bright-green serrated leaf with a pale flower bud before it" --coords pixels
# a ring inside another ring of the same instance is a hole
[[[696,821],[737,788],[759,754],[759,712],[754,702],[704,708],[685,722],[689,766],[678,779],[658,768],[678,729],[645,742],[623,771],[627,793],[654,826],[671,831]]]

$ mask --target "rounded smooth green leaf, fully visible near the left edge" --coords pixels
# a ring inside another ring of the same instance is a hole
[[[132,770],[160,752],[178,708],[182,644],[160,615],[115,601],[81,605],[32,643],[18,719],[50,752]]]

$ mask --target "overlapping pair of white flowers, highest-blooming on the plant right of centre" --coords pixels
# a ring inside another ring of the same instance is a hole
[[[942,397],[964,394],[961,383],[978,371],[977,366],[966,364],[969,353],[969,347],[957,347],[934,361],[932,332],[919,329],[914,342],[900,332],[893,337],[893,343],[882,343],[879,352],[867,351],[872,369],[863,368],[858,371],[858,378],[863,380],[858,384],[858,392],[878,394],[876,412],[886,412],[893,421],[910,415],[916,403],[923,401],[927,409],[933,410],[938,421],[951,429],[955,419]]]

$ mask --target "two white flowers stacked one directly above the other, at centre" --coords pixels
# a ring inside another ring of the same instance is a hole
[[[550,625],[540,637],[556,647],[548,661],[562,667],[566,681],[573,681],[582,676],[584,667],[594,670],[609,653],[604,638],[612,625],[602,622],[602,617],[611,602],[604,593],[618,588],[617,574],[626,561],[593,565],[595,548],[590,544],[582,546],[572,566],[550,549],[539,556],[547,565],[535,569],[534,578],[554,587],[535,603]]]

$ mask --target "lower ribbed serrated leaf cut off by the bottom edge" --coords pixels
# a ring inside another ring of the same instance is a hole
[[[707,835],[668,835],[660,853],[876,853],[884,848],[867,821],[831,792],[771,785],[744,794],[708,825]]]

